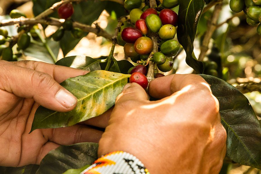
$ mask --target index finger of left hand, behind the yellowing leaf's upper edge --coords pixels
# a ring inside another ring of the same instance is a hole
[[[30,68],[36,71],[40,71],[46,74],[49,74],[52,76],[55,81],[58,83],[63,82],[64,80],[71,78],[71,77],[77,77],[79,75],[85,75],[89,71],[85,70],[79,70],[75,68],[70,68],[66,66],[59,66],[54,64],[48,64],[44,62],[38,62],[38,61],[17,61],[13,62],[17,66],[21,66],[23,68]]]

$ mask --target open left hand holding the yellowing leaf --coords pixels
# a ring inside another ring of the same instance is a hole
[[[67,128],[37,129],[30,132],[39,105],[67,112],[77,99],[59,85],[88,71],[35,61],[0,61],[0,166],[39,164],[60,145],[99,142],[108,114]],[[87,124],[87,125],[86,125]]]

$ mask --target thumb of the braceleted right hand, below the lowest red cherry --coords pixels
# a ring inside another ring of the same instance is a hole
[[[137,83],[128,83],[124,86],[122,93],[116,99],[115,104],[124,103],[126,101],[147,101],[148,95],[146,91]]]

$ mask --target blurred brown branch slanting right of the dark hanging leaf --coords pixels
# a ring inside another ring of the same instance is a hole
[[[223,5],[223,0],[219,0],[218,2],[219,3],[215,6],[213,16],[210,19],[208,26],[207,26],[208,30],[206,31],[206,34],[205,34],[203,42],[202,42],[200,56],[198,58],[199,61],[202,61],[204,59],[206,52],[209,49],[209,41],[210,41],[213,33],[216,30],[216,25],[217,25],[217,22],[218,22],[219,14],[221,12],[222,5]]]

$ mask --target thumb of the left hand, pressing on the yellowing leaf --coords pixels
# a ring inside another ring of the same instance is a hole
[[[46,73],[9,64],[3,79],[6,80],[0,81],[0,89],[18,97],[33,98],[48,109],[67,112],[77,104],[77,98]]]

